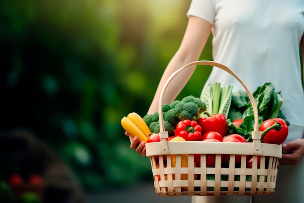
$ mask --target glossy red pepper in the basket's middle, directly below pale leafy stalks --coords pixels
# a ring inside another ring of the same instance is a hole
[[[201,117],[197,122],[202,127],[202,134],[208,131],[219,132],[223,137],[227,134],[227,120],[221,113],[211,114],[211,116],[208,117]]]

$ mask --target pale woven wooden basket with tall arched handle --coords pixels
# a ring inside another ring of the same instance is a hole
[[[166,141],[169,135],[167,131],[164,131],[162,116],[164,92],[176,74],[193,65],[218,67],[232,74],[242,84],[253,106],[254,130],[252,132],[252,143]],[[161,141],[146,144],[146,154],[151,160],[154,187],[157,194],[162,196],[220,196],[233,194],[253,196],[272,194],[275,191],[282,146],[261,143],[261,132],[258,130],[258,111],[254,97],[243,81],[231,69],[213,61],[195,61],[180,68],[169,77],[163,87],[160,95],[159,112]],[[201,166],[199,167],[194,164],[196,154],[201,159]],[[206,155],[208,154],[215,154],[215,167],[206,167]],[[221,164],[223,154],[230,155],[230,162],[227,166]],[[246,158],[248,156],[253,156],[252,168],[246,168]],[[185,157],[187,166],[185,166],[185,160],[184,165],[182,165]],[[235,165],[236,157],[241,157],[240,166]],[[175,167],[172,167],[172,158],[176,159]],[[258,159],[260,159],[259,167]]]

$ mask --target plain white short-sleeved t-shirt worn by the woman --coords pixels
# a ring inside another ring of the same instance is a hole
[[[302,138],[299,43],[304,33],[304,0],[192,0],[187,16],[213,24],[214,61],[231,68],[252,92],[266,82],[276,92],[282,91],[281,110],[298,129],[288,140]],[[244,90],[219,68],[213,68],[206,84],[214,82],[233,85],[233,92]]]

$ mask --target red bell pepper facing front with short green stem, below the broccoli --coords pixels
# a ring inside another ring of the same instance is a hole
[[[182,120],[178,122],[174,132],[175,136],[180,136],[186,141],[202,140],[202,128],[196,121]]]

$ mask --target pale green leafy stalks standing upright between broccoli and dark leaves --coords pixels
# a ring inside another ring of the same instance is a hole
[[[210,114],[221,113],[227,116],[231,105],[232,88],[231,85],[222,88],[218,82],[209,84],[201,95],[202,101],[206,104],[206,111]]]

